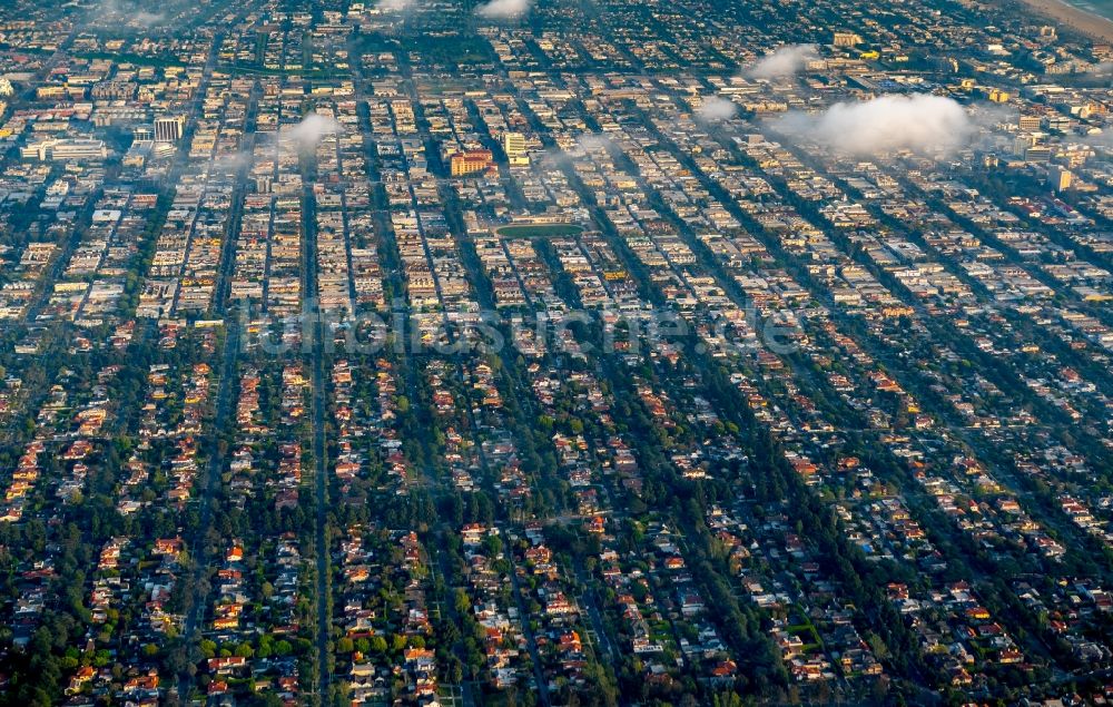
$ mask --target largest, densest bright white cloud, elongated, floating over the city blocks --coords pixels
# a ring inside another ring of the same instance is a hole
[[[772,128],[845,154],[880,155],[949,153],[967,145],[979,124],[954,99],[915,94],[839,102],[819,114],[790,112]]]

